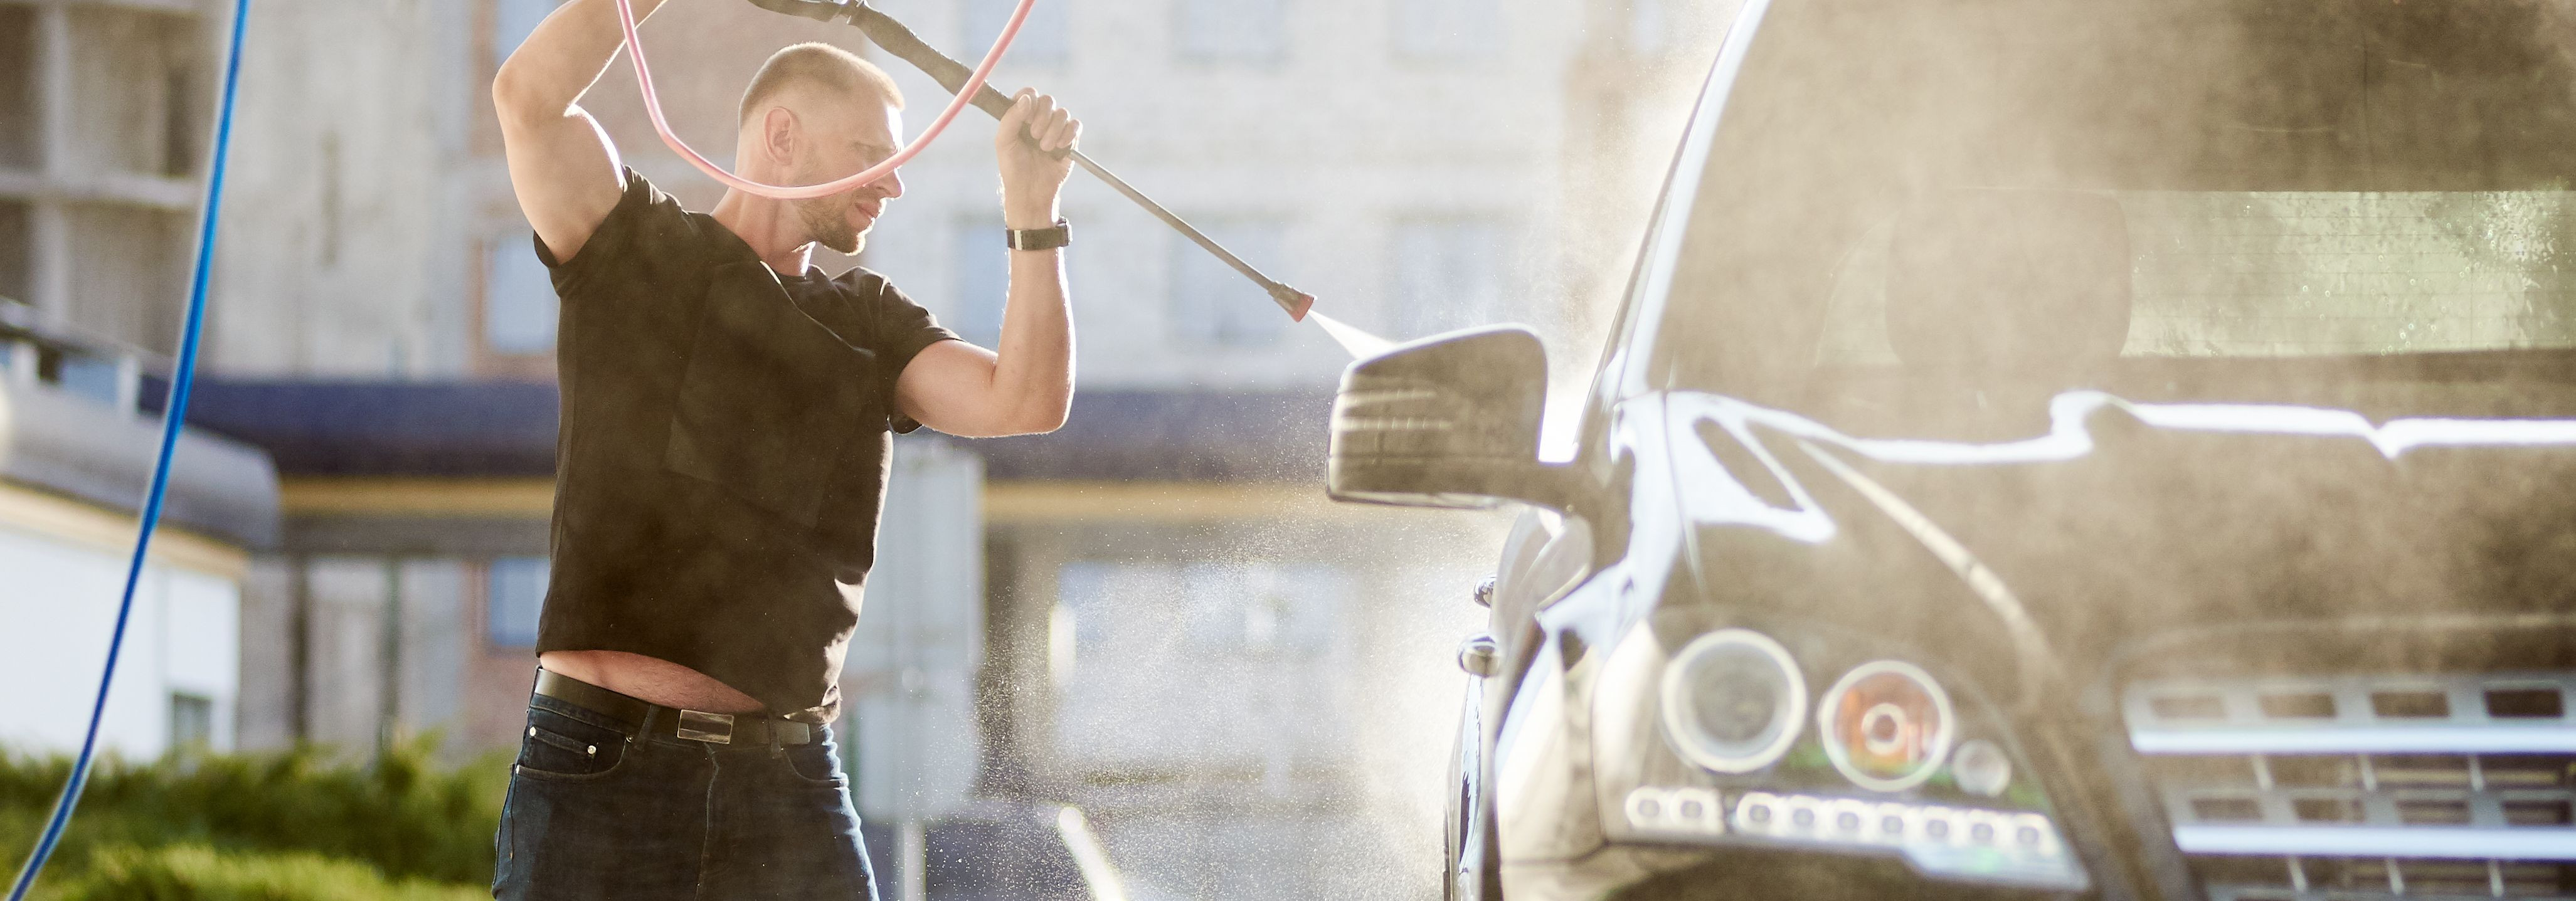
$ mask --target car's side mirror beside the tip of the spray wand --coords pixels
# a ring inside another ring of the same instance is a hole
[[[1566,469],[1538,463],[1548,350],[1525,327],[1432,335],[1342,371],[1332,499],[1404,507],[1566,507]]]

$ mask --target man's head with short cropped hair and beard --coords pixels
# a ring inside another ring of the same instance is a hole
[[[737,167],[755,180],[811,185],[894,154],[904,95],[876,64],[829,44],[770,54],[742,93]],[[858,252],[886,201],[904,193],[886,175],[845,193],[793,201],[806,239]]]

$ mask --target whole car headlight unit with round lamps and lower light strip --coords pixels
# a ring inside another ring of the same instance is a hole
[[[1638,628],[1613,649],[1595,695],[1613,839],[1896,855],[1940,880],[2089,886],[1981,695],[1860,638],[1801,638],[1728,626],[1664,654]],[[1832,687],[1808,698],[1811,677]]]

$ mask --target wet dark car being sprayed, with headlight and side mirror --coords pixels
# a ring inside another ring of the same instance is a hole
[[[2571,36],[1747,3],[1571,461],[1517,327],[1334,404],[1530,505],[1450,896],[2576,896]]]

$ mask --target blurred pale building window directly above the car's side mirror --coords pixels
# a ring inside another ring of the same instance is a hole
[[[1396,221],[1394,332],[1422,337],[1499,319],[1502,242],[1492,219]]]

